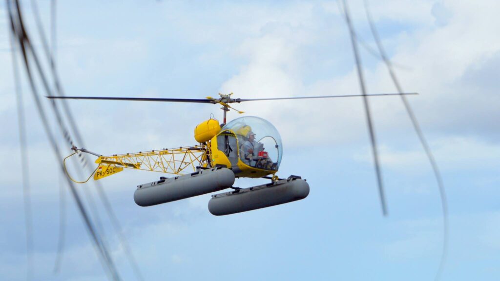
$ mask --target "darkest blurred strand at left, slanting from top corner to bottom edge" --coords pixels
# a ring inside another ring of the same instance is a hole
[[[15,20],[14,20],[14,16],[13,16],[13,12],[12,12],[12,7],[10,5],[10,1],[6,0],[6,3],[7,3],[7,8],[8,8],[8,12],[9,12],[9,19],[10,19],[10,23],[11,23],[11,31],[13,32],[13,34],[15,34],[17,36],[17,40],[20,44],[20,49],[22,51],[22,57],[24,60],[26,74],[28,76],[29,85],[31,87],[31,93],[33,95],[33,99],[35,101],[35,105],[37,107],[37,111],[39,113],[40,119],[41,119],[42,124],[44,126],[45,132],[47,133],[47,137],[49,138],[52,150],[53,150],[53,152],[54,152],[54,154],[59,162],[59,167],[60,167],[61,172],[62,172],[63,171],[63,163],[61,160],[62,155],[60,155],[59,148],[57,146],[57,143],[55,142],[54,136],[53,136],[51,129],[50,129],[50,126],[48,124],[47,117],[45,115],[45,111],[44,111],[43,106],[41,104],[41,101],[39,99],[38,92],[37,92],[37,89],[36,89],[36,86],[34,84],[32,74],[31,74],[31,68],[30,68],[30,64],[29,64],[29,60],[28,60],[28,56],[27,56],[28,55],[27,51],[29,51],[31,53],[31,56],[33,57],[33,59],[35,60],[35,62],[37,64],[40,78],[44,81],[45,90],[47,91],[47,93],[50,93],[50,89],[46,87],[46,79],[45,79],[43,72],[41,71],[41,69],[39,67],[39,62],[37,61],[36,52],[30,46],[30,41],[29,41],[29,38],[28,38],[27,33],[25,31],[22,16],[21,16],[21,9],[20,9],[19,1],[15,0],[15,7],[16,7]],[[120,278],[119,278],[118,273],[115,269],[114,263],[112,262],[107,249],[102,244],[99,235],[95,232],[94,227],[92,225],[92,222],[89,219],[89,216],[86,212],[86,209],[85,209],[85,207],[84,207],[84,205],[79,197],[78,191],[76,190],[76,188],[74,187],[72,182],[69,180],[69,178],[67,178],[67,181],[68,181],[68,184],[70,187],[71,194],[73,195],[73,198],[75,199],[78,210],[80,211],[80,214],[85,222],[86,229],[87,229],[88,233],[90,234],[90,236],[92,237],[92,240],[94,241],[95,249],[98,251],[98,253],[100,253],[100,254],[98,254],[98,256],[99,256],[100,260],[102,261],[102,266],[105,269],[108,269],[108,270],[106,270],[106,272],[114,280],[119,280]]]

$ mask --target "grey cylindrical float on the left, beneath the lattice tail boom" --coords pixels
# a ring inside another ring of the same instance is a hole
[[[219,191],[233,183],[234,173],[228,168],[202,169],[138,185],[133,200],[139,206],[152,206]]]

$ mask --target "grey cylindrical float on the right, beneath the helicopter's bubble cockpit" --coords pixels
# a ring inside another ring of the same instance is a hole
[[[273,183],[242,188],[212,195],[208,210],[214,215],[224,215],[270,207],[307,197],[309,184],[298,176]]]

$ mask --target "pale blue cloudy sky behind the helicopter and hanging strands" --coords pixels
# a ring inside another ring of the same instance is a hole
[[[29,1],[21,1],[41,53]],[[376,49],[362,0],[354,27]],[[50,1],[38,1],[49,34]],[[369,1],[395,71],[441,170],[449,240],[442,280],[500,276],[500,3]],[[26,242],[11,50],[0,5],[0,276],[26,279]],[[56,62],[67,95],[204,98],[359,94],[348,29],[336,1],[57,1]],[[368,93],[395,92],[360,47]],[[46,66],[46,64],[45,64]],[[24,77],[24,75],[23,75]],[[33,209],[35,280],[106,280],[64,174],[22,82]],[[371,97],[388,216],[381,213],[361,98],[235,104],[280,132],[280,177],[307,179],[303,200],[228,216],[209,194],[139,207],[136,185],[161,174],[101,179],[147,280],[427,280],[440,261],[443,216],[431,167],[399,97]],[[48,102],[45,106],[48,109]],[[218,106],[68,102],[85,146],[101,154],[194,144]],[[229,111],[228,118],[239,114]],[[54,119],[51,120],[55,129]],[[58,135],[63,152],[70,147]],[[80,145],[78,145],[80,146]],[[235,186],[265,183],[237,179]],[[60,271],[60,187],[67,202]],[[135,275],[93,184],[77,186],[123,280]]]

